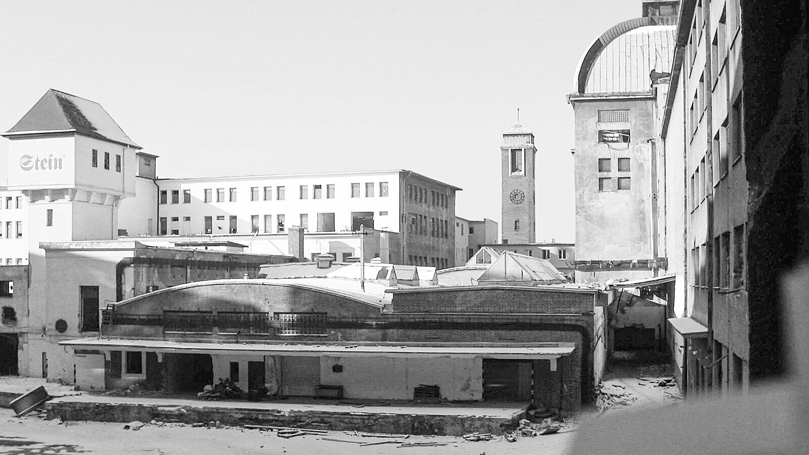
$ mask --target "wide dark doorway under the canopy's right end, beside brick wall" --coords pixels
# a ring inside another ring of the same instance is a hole
[[[483,359],[483,400],[530,400],[531,364],[531,360]]]

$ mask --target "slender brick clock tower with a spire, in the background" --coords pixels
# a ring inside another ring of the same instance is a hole
[[[503,132],[502,155],[502,243],[530,244],[536,236],[534,194],[534,134],[514,125]]]

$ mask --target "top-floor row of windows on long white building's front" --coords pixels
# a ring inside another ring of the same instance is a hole
[[[335,198],[335,185],[328,184],[325,185],[325,192],[324,192],[324,185],[311,185],[311,198],[312,199],[333,199]],[[310,185],[299,185],[299,199],[308,199],[309,198],[309,187]],[[373,182],[365,184],[365,197],[366,198],[373,198],[375,193],[376,184]],[[190,204],[191,203],[191,190],[190,189],[183,189],[183,198],[182,203]],[[172,189],[171,192],[169,190],[163,189],[160,191],[159,196],[159,203],[167,204],[169,203],[169,193],[171,193],[171,203],[172,204],[179,204],[180,203],[180,189]],[[235,188],[228,188],[227,189],[227,202],[236,202],[236,189]],[[388,182],[387,181],[380,181],[379,182],[379,198],[387,198],[388,197]],[[351,184],[351,197],[352,198],[360,198],[360,184],[352,183]],[[276,186],[275,187],[275,200],[276,201],[283,201],[286,199],[286,186]],[[265,187],[258,187],[252,186],[250,187],[250,201],[272,201],[273,200],[273,187],[272,186],[265,186]],[[206,188],[203,189],[203,202],[214,202],[214,189]],[[216,189],[216,202],[226,202],[225,201],[225,189],[224,188],[217,188]]]

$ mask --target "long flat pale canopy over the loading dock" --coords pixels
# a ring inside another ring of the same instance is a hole
[[[101,351],[154,351],[178,354],[296,355],[318,357],[490,357],[496,359],[557,359],[569,355],[572,342],[521,343],[433,343],[378,344],[283,344],[172,342],[142,339],[83,338],[60,342],[63,346]]]

